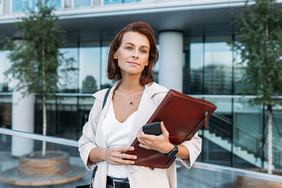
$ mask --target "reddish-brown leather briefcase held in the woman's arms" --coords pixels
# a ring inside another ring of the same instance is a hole
[[[147,123],[163,121],[169,132],[169,141],[173,144],[180,144],[192,139],[202,125],[205,124],[207,128],[207,119],[215,110],[216,106],[209,101],[195,99],[170,89]],[[168,168],[176,159],[176,157],[165,156],[159,151],[141,148],[137,138],[131,146],[134,146],[135,150],[127,153],[137,156],[135,165]]]

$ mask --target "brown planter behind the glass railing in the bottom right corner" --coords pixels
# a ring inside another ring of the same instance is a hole
[[[265,169],[250,169],[252,171],[256,171],[259,173],[267,173],[267,170]],[[274,175],[282,175],[281,171],[276,171],[274,170],[272,172],[272,174]],[[249,177],[242,177],[242,176],[238,176],[237,178],[237,184],[236,184],[237,188],[243,188],[243,187],[259,187],[259,188],[282,188],[282,184],[278,183],[278,182],[269,182],[269,181],[264,181],[264,180],[256,180],[256,179],[252,179]]]

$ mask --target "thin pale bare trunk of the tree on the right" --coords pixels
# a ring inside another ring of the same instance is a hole
[[[267,173],[272,174],[272,106],[269,105],[267,107],[267,113],[269,115],[269,123],[268,123],[268,157],[269,157],[269,168]]]

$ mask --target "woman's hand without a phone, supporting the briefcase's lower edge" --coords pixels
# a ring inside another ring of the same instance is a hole
[[[126,151],[133,151],[134,147],[125,146],[125,147],[115,147],[115,148],[106,148],[104,153],[104,160],[110,163],[111,165],[133,165],[137,156],[128,155]]]

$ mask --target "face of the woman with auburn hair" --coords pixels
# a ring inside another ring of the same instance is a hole
[[[125,32],[121,46],[114,54],[121,75],[141,75],[149,63],[149,39],[139,32]]]

